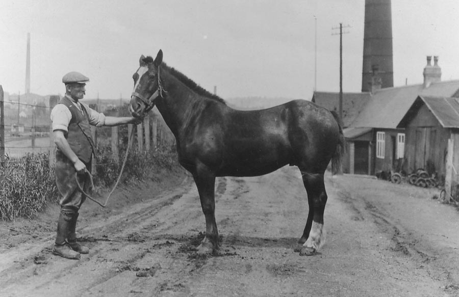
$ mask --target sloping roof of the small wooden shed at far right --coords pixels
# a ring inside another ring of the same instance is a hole
[[[444,128],[459,128],[458,98],[419,97]]]

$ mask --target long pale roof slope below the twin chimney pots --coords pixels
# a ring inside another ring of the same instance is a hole
[[[371,96],[365,109],[350,126],[395,129],[418,95],[451,97],[458,90],[459,80],[432,83],[428,88],[420,84],[381,89]]]

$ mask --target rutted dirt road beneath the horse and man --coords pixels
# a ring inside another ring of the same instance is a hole
[[[308,203],[296,168],[219,178],[221,248],[199,257],[196,187],[170,182],[119,191],[106,209],[87,202],[77,231],[91,252],[77,261],[50,254],[57,209],[4,223],[0,296],[459,295],[459,214],[431,199],[438,191],[327,175],[327,242],[300,257]]]

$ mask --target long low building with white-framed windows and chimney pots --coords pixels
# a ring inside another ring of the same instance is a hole
[[[360,95],[343,94],[344,135],[348,146],[343,164],[345,173],[373,175],[380,171],[401,170],[402,165],[406,171],[417,169],[403,161],[412,156],[406,155],[406,134],[400,122],[418,96],[459,97],[459,80],[442,82],[438,57],[433,66],[430,60],[431,57],[427,57],[423,84],[377,88],[372,93]],[[339,94],[314,92],[312,100],[336,110]],[[416,166],[426,168],[426,162],[427,159]]]

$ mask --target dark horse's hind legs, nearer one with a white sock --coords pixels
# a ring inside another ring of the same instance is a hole
[[[303,235],[295,248],[301,256],[315,254],[325,243],[325,229],[323,228],[323,213],[327,203],[327,193],[323,174],[311,174],[301,171],[304,187],[308,193],[309,213]]]

